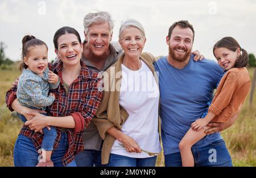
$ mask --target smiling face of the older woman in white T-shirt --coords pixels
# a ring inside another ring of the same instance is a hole
[[[139,58],[146,43],[138,28],[127,27],[123,29],[119,43],[125,52],[126,57]]]

